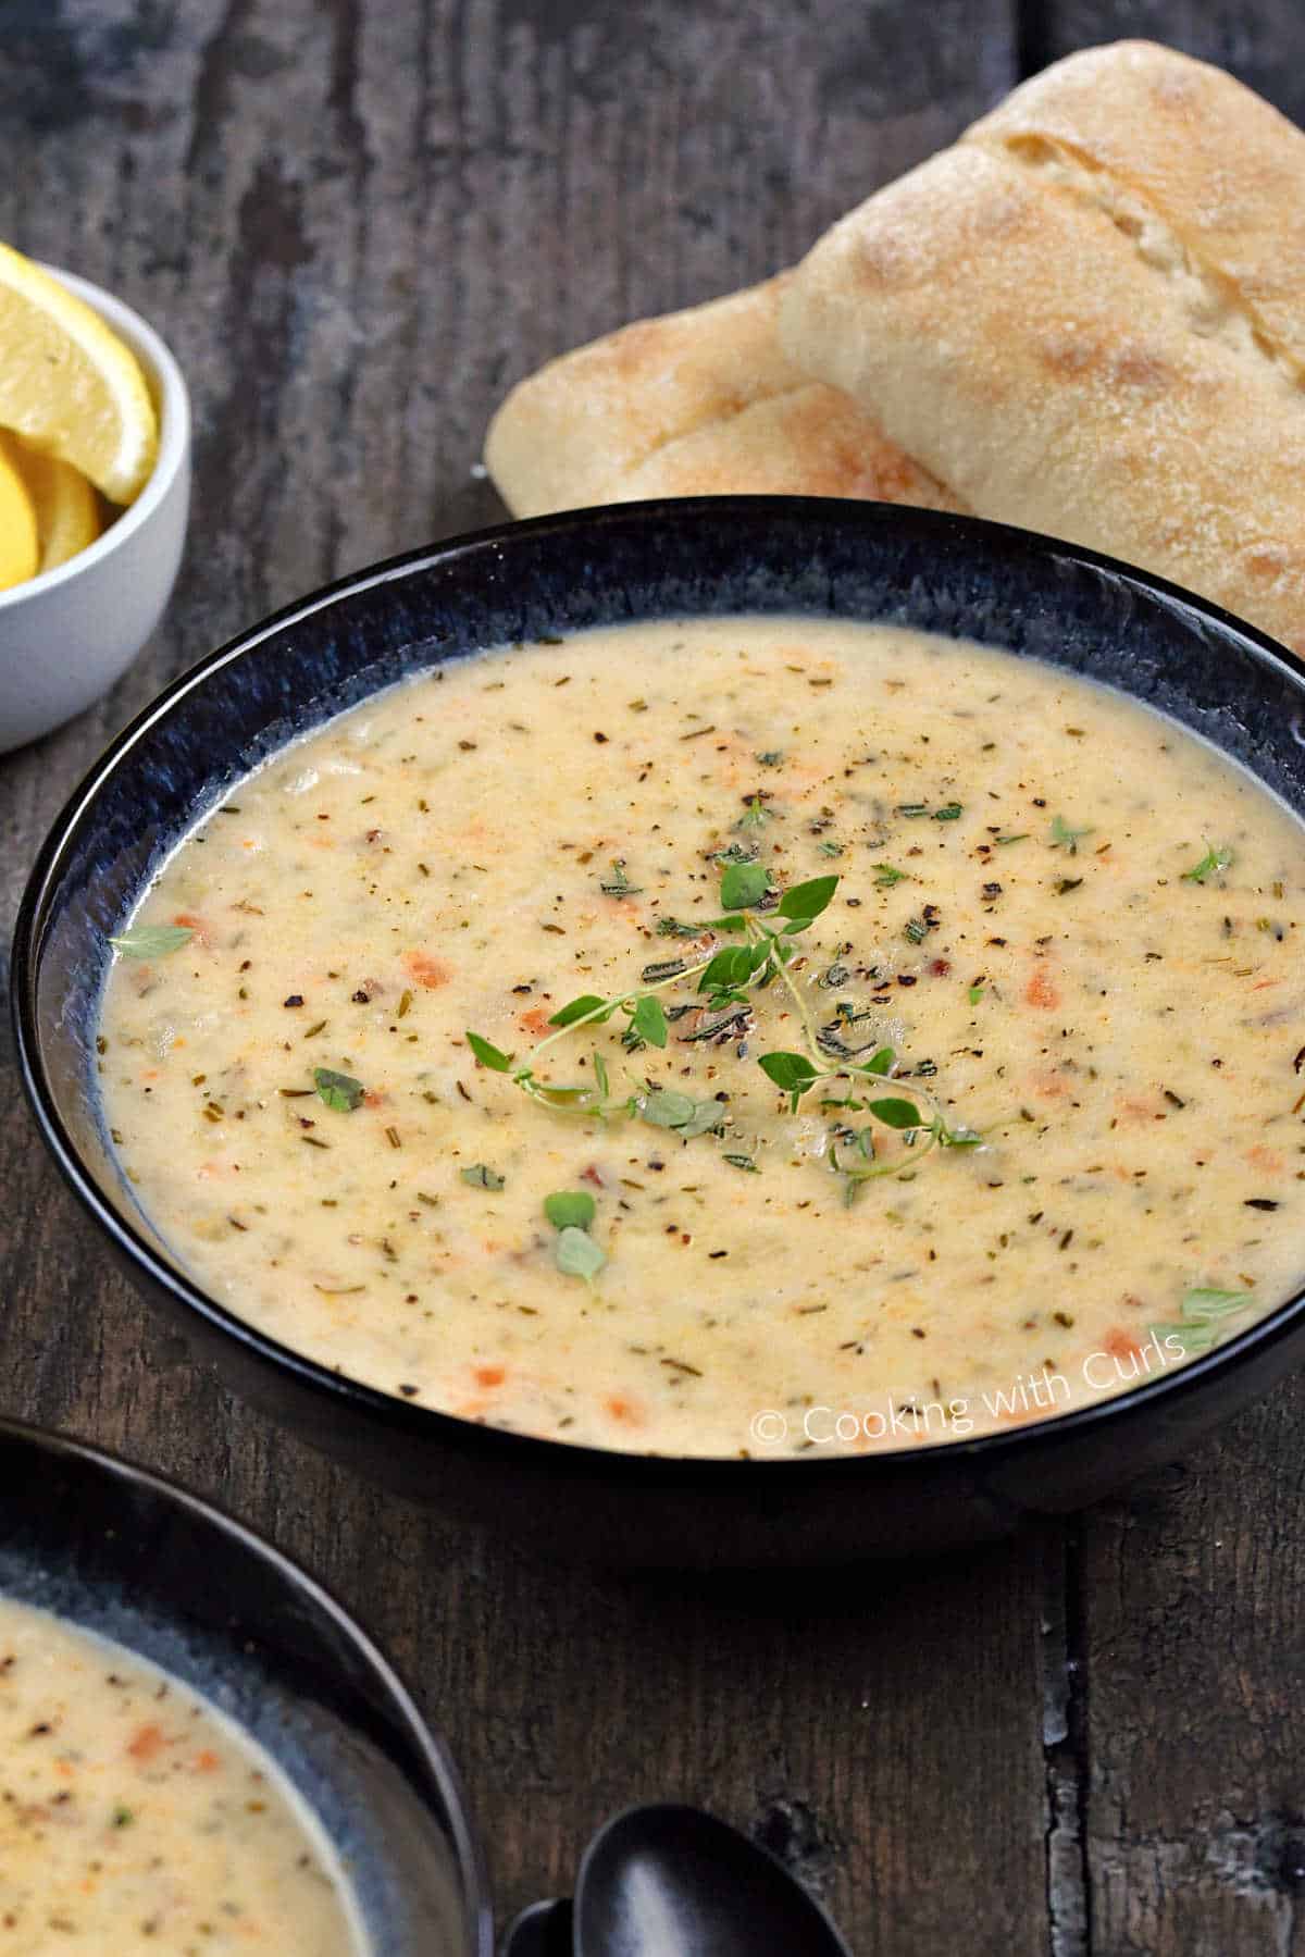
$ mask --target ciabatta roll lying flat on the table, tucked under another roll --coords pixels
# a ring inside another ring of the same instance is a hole
[[[638,321],[522,380],[485,436],[513,515],[732,491],[955,509],[865,409],[781,354],[783,288]]]

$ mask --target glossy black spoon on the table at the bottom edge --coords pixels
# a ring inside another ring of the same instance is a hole
[[[785,1865],[700,1808],[628,1808],[585,1849],[575,1904],[538,1902],[501,1957],[851,1957]]]

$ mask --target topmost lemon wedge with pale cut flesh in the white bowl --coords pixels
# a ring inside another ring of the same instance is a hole
[[[98,313],[0,245],[0,427],[131,503],[158,454],[141,364]]]

